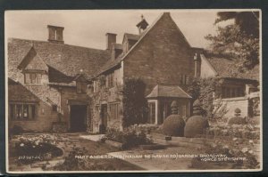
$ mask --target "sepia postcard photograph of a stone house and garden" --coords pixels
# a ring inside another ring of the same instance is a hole
[[[8,173],[263,170],[262,12],[4,12]]]

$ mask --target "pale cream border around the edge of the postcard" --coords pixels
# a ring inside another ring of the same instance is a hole
[[[7,36],[6,36],[6,15],[4,15],[4,79],[5,79],[5,165],[6,173],[215,173],[215,172],[261,172],[263,171],[263,40],[262,40],[262,10],[261,9],[142,9],[142,10],[23,10],[31,12],[73,12],[73,11],[168,11],[168,12],[242,12],[257,11],[259,12],[260,28],[260,168],[259,169],[222,169],[222,170],[147,170],[147,171],[9,171],[8,165],[8,69],[7,69]],[[13,12],[13,11],[5,11]],[[4,14],[5,14],[4,12]],[[19,12],[14,10],[14,12]]]

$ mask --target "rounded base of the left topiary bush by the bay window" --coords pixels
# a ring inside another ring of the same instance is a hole
[[[183,136],[185,122],[179,115],[171,115],[163,121],[163,133],[169,136]]]

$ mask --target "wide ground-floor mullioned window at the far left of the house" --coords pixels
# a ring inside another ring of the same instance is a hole
[[[35,116],[34,104],[10,104],[10,117],[13,120],[33,120]]]

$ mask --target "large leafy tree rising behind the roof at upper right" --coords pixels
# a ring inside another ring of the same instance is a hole
[[[211,41],[211,50],[232,56],[239,72],[254,68],[259,63],[258,12],[218,12],[217,15],[215,24],[223,20],[234,20],[234,23],[219,26],[215,36],[205,36]]]

